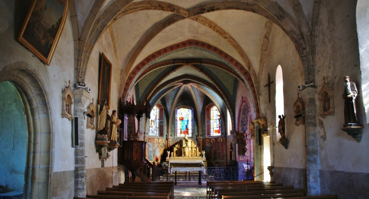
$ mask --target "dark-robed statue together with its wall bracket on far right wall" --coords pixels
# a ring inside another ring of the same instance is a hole
[[[361,128],[359,118],[356,111],[356,96],[357,88],[354,82],[351,82],[349,76],[345,76],[345,89],[343,92],[343,99],[345,100],[345,124],[343,124],[343,131],[346,131],[349,136],[354,138],[357,142],[361,142]]]

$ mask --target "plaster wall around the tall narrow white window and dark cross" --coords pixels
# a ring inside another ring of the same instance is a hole
[[[273,122],[268,135],[270,140],[271,166],[286,168],[305,168],[305,126],[294,124],[295,119],[293,104],[297,99],[298,85],[304,82],[304,72],[302,63],[295,45],[286,33],[279,27],[273,26],[269,37],[269,48],[267,50],[266,63],[261,78],[260,85],[260,110],[266,120]],[[276,127],[275,115],[275,75],[278,65],[281,65],[283,72],[283,92],[284,92],[284,112],[286,115],[286,136],[289,140],[288,149],[281,144],[277,144],[276,134],[279,134]],[[270,103],[268,98],[268,73],[270,81],[274,81],[270,86]],[[274,154],[273,154],[274,143]],[[274,161],[273,161],[274,157]],[[288,174],[287,174],[288,175]]]

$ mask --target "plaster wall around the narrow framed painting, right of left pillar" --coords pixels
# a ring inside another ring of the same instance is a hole
[[[98,94],[99,94],[99,66],[101,64],[101,56],[102,53],[108,58],[108,60],[112,63],[112,77],[111,77],[111,91],[110,91],[110,109],[109,114],[112,113],[113,110],[118,110],[118,101],[120,95],[118,94],[119,87],[119,75],[120,71],[118,68],[117,59],[114,55],[114,49],[112,44],[112,39],[109,33],[109,30],[106,30],[102,36],[99,38],[98,42],[94,46],[91,51],[91,55],[89,57],[86,69],[86,77],[85,83],[87,87],[90,87],[89,100],[87,100],[85,107],[92,101],[94,98],[94,103],[96,104],[97,114],[99,113],[98,105]],[[86,170],[99,168],[101,167],[101,162],[99,159],[99,155],[96,152],[95,140],[97,135],[97,127],[98,127],[98,118],[95,118],[95,126],[94,130],[86,128],[87,120],[83,120],[84,132],[85,132],[85,153],[86,153]],[[113,150],[109,152],[110,158],[105,161],[105,167],[117,166],[117,150]],[[88,177],[88,176],[87,176]]]

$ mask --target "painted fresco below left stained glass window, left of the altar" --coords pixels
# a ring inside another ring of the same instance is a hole
[[[161,162],[162,158],[166,157],[166,140],[163,138],[145,138],[145,141],[146,159],[150,162]]]

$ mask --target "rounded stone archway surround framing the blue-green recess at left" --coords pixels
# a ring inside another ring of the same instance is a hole
[[[12,82],[24,104],[28,129],[25,172],[25,198],[51,198],[54,159],[52,114],[44,84],[37,69],[25,61],[7,65],[0,71],[0,82]]]

